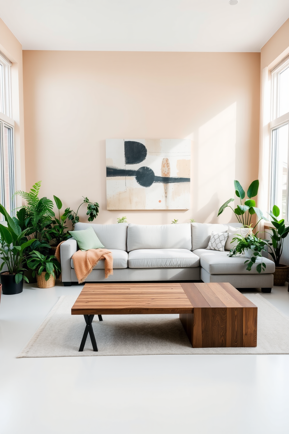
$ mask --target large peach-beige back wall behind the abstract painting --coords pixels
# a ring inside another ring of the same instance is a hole
[[[257,179],[260,53],[23,51],[23,79],[26,189],[88,196],[97,223],[229,221],[233,180]],[[191,209],[107,211],[106,138],[191,138]]]

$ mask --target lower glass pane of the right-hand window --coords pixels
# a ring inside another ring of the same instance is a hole
[[[280,209],[280,214],[287,221],[287,186],[288,186],[288,124],[273,130],[273,179],[272,199]]]

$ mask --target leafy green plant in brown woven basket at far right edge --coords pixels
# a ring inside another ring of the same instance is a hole
[[[289,266],[280,264],[280,259],[283,251],[283,242],[289,233],[289,226],[285,226],[284,219],[278,220],[277,217],[280,215],[280,210],[277,205],[274,205],[270,211],[270,216],[272,217],[272,233],[270,233],[271,243],[269,243],[268,253],[272,256],[275,262],[275,272],[274,285],[283,286],[285,285],[286,279],[288,277]]]

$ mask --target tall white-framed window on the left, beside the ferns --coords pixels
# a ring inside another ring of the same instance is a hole
[[[0,201],[14,215],[14,121],[11,110],[11,63],[0,53]],[[0,221],[3,216],[0,214]]]

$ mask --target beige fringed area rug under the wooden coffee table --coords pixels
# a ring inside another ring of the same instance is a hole
[[[62,296],[20,354],[21,357],[71,357],[152,354],[289,354],[289,317],[260,294],[246,295],[258,307],[256,348],[192,348],[179,315],[97,315],[92,322],[98,352],[82,315],[71,315],[75,296]]]

